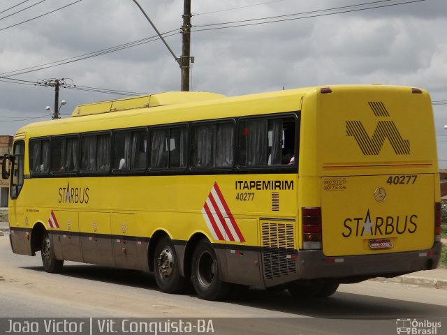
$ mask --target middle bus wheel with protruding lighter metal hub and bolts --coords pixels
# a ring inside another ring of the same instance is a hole
[[[154,273],[156,285],[161,292],[177,293],[186,286],[186,278],[180,275],[177,254],[169,237],[163,237],[156,245]]]

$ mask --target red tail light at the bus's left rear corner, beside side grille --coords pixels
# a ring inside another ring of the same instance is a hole
[[[302,207],[302,248],[321,249],[321,207]]]

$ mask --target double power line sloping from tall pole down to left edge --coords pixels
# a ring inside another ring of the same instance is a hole
[[[163,33],[162,35],[164,35],[166,38],[170,37],[170,36],[175,36],[177,34],[180,34],[178,32],[179,29],[175,29],[172,31],[167,31],[166,33]],[[177,31],[175,34],[171,34],[174,31]],[[46,63],[46,64],[41,64],[41,65],[37,65],[37,66],[30,66],[28,68],[22,68],[19,70],[13,70],[13,71],[8,71],[5,73],[0,73],[0,78],[2,77],[12,77],[14,75],[23,75],[25,73],[31,73],[34,71],[38,71],[38,70],[44,70],[46,68],[54,68],[55,66],[60,66],[60,65],[64,65],[64,64],[70,64],[70,63],[74,63],[75,61],[82,61],[84,59],[89,59],[89,58],[94,58],[94,57],[98,57],[98,56],[102,56],[103,54],[109,54],[111,52],[117,52],[119,50],[124,50],[127,49],[129,47],[136,47],[138,45],[142,45],[145,43],[150,43],[150,42],[154,42],[155,40],[159,40],[159,36],[150,36],[147,38],[142,38],[140,40],[135,40],[133,42],[129,42],[129,43],[124,43],[121,45],[115,45],[114,47],[108,47],[105,48],[103,50],[98,50],[98,51],[94,51],[94,52],[89,52],[87,54],[81,54],[79,56],[75,56],[75,57],[70,57],[70,58],[66,58],[66,59],[61,59],[59,61],[52,61],[50,63]]]

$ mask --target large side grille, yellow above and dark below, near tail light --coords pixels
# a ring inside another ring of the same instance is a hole
[[[264,276],[274,279],[296,273],[293,224],[262,223]]]

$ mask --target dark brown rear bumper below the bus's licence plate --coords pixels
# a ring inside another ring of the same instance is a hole
[[[354,283],[374,277],[393,277],[435,269],[441,258],[441,243],[433,248],[404,253],[328,257],[321,250],[299,251],[298,277]]]

